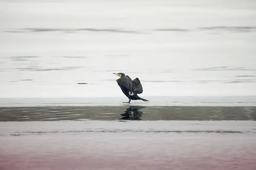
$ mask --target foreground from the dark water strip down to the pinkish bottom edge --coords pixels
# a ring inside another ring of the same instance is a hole
[[[1,170],[254,170],[256,107],[0,108]]]

